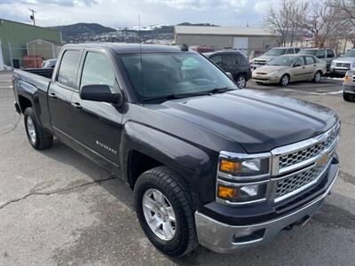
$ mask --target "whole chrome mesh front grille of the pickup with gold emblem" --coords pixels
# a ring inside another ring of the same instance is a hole
[[[327,170],[339,139],[340,124],[311,139],[272,151],[272,199],[287,199],[316,184]]]

